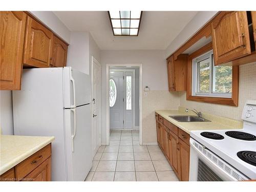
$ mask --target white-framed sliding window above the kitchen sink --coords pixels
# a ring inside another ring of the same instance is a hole
[[[232,66],[215,66],[212,50],[192,60],[193,96],[232,97]]]

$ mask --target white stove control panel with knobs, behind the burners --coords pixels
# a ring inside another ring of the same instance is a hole
[[[248,100],[244,106],[242,119],[256,123],[256,100]]]

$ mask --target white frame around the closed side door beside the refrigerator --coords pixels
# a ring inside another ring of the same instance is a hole
[[[100,74],[100,76],[99,76],[99,114],[98,114],[98,118],[99,118],[99,146],[100,146],[101,145],[101,122],[100,122],[100,118],[101,118],[101,65],[97,61],[97,59],[94,56],[92,56],[91,102],[92,102],[92,99],[93,99],[93,63],[95,63],[99,67],[99,74]],[[91,128],[92,128],[92,133],[93,133],[93,103],[91,104],[91,118],[92,118],[92,127]],[[92,135],[92,138],[93,138],[93,135]],[[94,151],[93,151],[93,154],[94,154]]]

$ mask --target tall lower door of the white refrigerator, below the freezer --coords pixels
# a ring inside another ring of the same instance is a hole
[[[91,105],[64,111],[68,181],[84,181],[92,167]]]

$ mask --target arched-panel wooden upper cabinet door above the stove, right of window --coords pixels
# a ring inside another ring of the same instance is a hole
[[[246,11],[223,11],[211,23],[215,65],[251,53]]]

